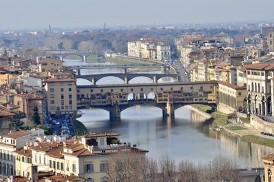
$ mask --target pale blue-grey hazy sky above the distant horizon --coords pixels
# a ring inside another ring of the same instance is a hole
[[[274,0],[0,0],[0,29],[274,19]]]

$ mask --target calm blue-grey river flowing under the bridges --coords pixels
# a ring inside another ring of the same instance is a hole
[[[68,61],[66,64],[82,64]],[[85,73],[117,73],[119,69],[104,68],[82,70]],[[153,70],[157,73],[158,71]],[[160,73],[160,71],[159,71]],[[173,81],[166,78],[162,81]],[[129,83],[151,83],[147,78],[138,77]],[[123,83],[114,77],[101,79],[97,84]],[[77,80],[77,84],[88,84]],[[234,157],[241,168],[257,168],[262,166],[261,157],[273,153],[274,148],[244,142],[223,131],[211,131],[203,122],[203,117],[184,107],[175,111],[175,118],[163,119],[162,110],[145,105],[130,107],[121,113],[121,120],[110,120],[109,113],[102,109],[82,109],[82,118],[90,132],[116,131],[121,133],[121,142],[137,144],[147,149],[149,157],[158,159],[169,154],[176,162],[188,159],[195,163],[209,162],[216,155]],[[260,161],[260,162],[259,162]]]

